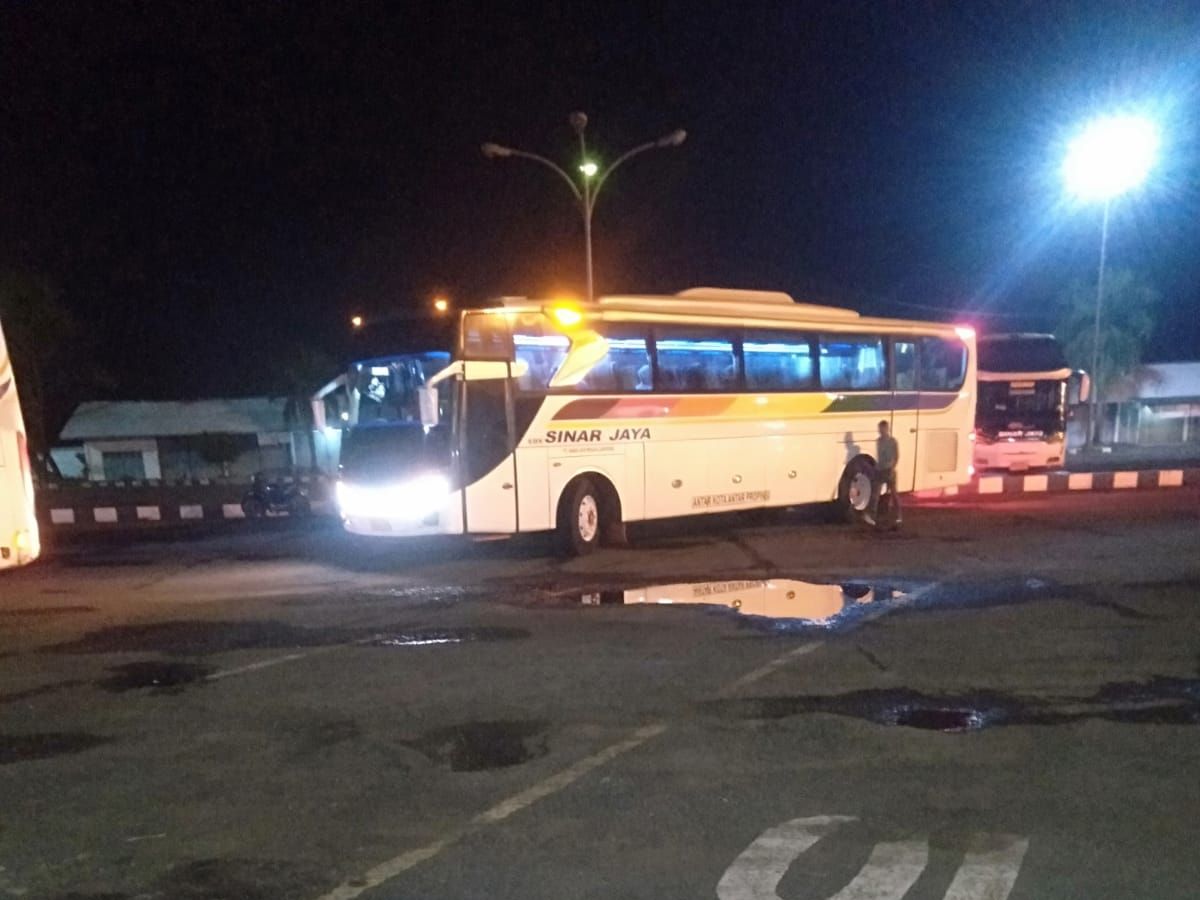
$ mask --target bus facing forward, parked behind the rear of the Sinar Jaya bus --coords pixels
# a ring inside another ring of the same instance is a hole
[[[1090,379],[1067,365],[1054,335],[980,335],[976,457],[979,470],[1062,466],[1067,419]]]

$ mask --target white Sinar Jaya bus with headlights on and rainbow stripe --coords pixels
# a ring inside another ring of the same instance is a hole
[[[349,379],[352,533],[557,530],[583,553],[641,520],[816,502],[853,517],[880,420],[900,443],[899,491],[970,478],[964,326],[696,288],[464,311],[448,365],[431,374],[431,359],[374,359]],[[373,395],[373,421],[355,391]]]

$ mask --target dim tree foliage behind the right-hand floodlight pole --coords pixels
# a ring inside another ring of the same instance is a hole
[[[1096,320],[1096,283],[1075,281],[1058,299],[1058,328],[1067,361],[1092,377],[1097,397],[1121,378],[1135,372],[1154,332],[1159,294],[1129,269],[1108,272],[1100,308],[1099,371],[1092,372],[1092,334]]]

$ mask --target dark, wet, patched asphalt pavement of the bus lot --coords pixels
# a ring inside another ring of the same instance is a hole
[[[0,580],[0,896],[1192,898],[1200,492]]]

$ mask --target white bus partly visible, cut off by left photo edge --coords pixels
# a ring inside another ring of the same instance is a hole
[[[25,422],[0,329],[0,569],[30,563],[40,552]]]

